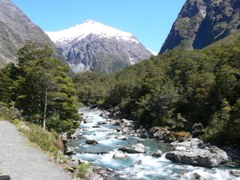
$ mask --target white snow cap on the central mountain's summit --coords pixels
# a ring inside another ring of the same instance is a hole
[[[106,26],[93,20],[87,20],[83,24],[78,24],[65,30],[57,32],[46,32],[54,43],[69,43],[74,39],[81,40],[90,34],[104,38],[115,38],[117,40],[131,41],[139,43],[137,39],[128,32]]]

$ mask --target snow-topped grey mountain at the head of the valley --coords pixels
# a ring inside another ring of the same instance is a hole
[[[74,72],[113,73],[152,55],[132,34],[92,20],[46,33]]]

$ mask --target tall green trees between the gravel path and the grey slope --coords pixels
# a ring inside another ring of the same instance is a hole
[[[68,67],[53,58],[49,47],[32,42],[18,51],[18,57],[18,66],[0,71],[0,84],[7,87],[0,101],[14,101],[26,121],[44,128],[46,124],[48,130],[74,131],[80,117]]]

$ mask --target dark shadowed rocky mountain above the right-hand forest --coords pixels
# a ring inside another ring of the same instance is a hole
[[[202,49],[240,29],[240,0],[187,0],[160,53]]]

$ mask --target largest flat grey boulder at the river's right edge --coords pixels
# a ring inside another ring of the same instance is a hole
[[[190,164],[209,168],[229,161],[225,151],[217,148],[216,146],[202,148],[201,143],[196,144],[197,142],[201,141],[193,140],[192,142],[184,141],[182,143],[172,143],[175,146],[179,146],[179,144],[181,144],[181,146],[186,147],[186,149],[168,152],[166,154],[166,158],[181,164]]]

